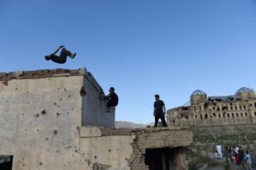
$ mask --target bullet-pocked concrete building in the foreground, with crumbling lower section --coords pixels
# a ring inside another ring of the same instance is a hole
[[[86,69],[0,73],[0,169],[188,169],[183,128],[114,129]]]

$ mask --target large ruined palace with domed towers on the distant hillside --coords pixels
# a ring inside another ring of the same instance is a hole
[[[167,112],[170,126],[242,125],[256,123],[255,91],[246,87],[232,96],[207,96],[196,90],[189,106]]]

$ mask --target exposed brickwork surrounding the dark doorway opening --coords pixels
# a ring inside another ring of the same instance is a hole
[[[133,153],[129,159],[132,170],[146,170],[149,167],[144,163],[146,149],[177,147],[174,162],[178,170],[188,169],[187,153],[183,147],[191,145],[193,134],[188,130],[170,130],[168,128],[153,128],[134,130],[136,135],[132,143]]]

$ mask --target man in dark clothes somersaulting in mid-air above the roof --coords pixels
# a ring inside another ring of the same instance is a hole
[[[60,56],[56,55],[58,53],[58,51],[61,50],[60,52]],[[76,53],[71,53],[70,51],[65,49],[65,46],[61,45],[60,47],[58,47],[57,50],[55,50],[55,52],[53,52],[50,55],[46,55],[46,60],[52,60],[53,62],[57,62],[58,64],[64,64],[67,61],[67,57],[70,58],[75,58]]]

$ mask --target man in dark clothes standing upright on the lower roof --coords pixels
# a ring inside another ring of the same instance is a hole
[[[161,119],[161,123],[164,127],[167,127],[165,114],[166,114],[166,107],[164,101],[160,100],[160,96],[158,94],[155,95],[155,102],[154,102],[154,117],[155,117],[155,124],[154,127],[157,127],[159,123],[159,118]]]

